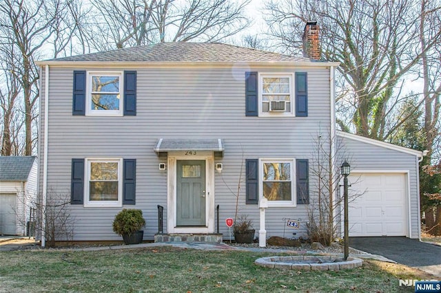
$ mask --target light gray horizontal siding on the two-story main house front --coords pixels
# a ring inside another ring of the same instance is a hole
[[[222,138],[225,142],[222,173],[215,172],[215,204],[220,205],[220,232],[227,237],[226,217],[234,217],[240,164],[247,158],[309,158],[312,138],[330,129],[329,68],[269,70],[136,69],[136,116],[72,116],[72,76],[85,68],[50,67],[48,188],[70,200],[72,158],[108,157],[136,159],[136,206],[146,219],[144,239],[157,232],[157,205],[164,206],[167,225],[167,171],[159,171],[153,149],[159,138]],[[121,68],[120,70],[132,70]],[[100,71],[98,68],[87,68]],[[118,69],[112,69],[115,71]],[[245,71],[307,72],[308,117],[259,118],[245,116]],[[41,74],[44,78],[43,74]],[[44,82],[41,83],[44,85]],[[41,88],[43,96],[44,87]],[[41,100],[40,164],[43,166],[44,101]],[[43,183],[40,169],[40,190]],[[241,175],[239,213],[247,214],[259,229],[258,206],[245,205],[245,165]],[[230,191],[231,190],[231,191]],[[112,221],[121,208],[70,206],[74,240],[121,240],[112,232]],[[297,236],[305,236],[307,210],[268,208],[267,235],[283,235],[283,219],[300,219]],[[285,233],[290,228],[285,229]],[[165,231],[166,232],[166,231]],[[291,233],[292,233],[291,232]],[[289,236],[289,235],[287,235]]]

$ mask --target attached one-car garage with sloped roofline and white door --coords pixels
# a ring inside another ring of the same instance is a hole
[[[341,162],[351,165],[349,236],[420,238],[419,164],[424,153],[342,131],[337,138]],[[342,215],[342,206],[340,210]],[[342,223],[343,215],[337,223],[341,233]]]

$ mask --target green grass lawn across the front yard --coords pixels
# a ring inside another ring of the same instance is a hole
[[[398,280],[429,276],[365,261],[339,272],[254,265],[269,253],[144,248],[0,252],[0,292],[413,292]]]

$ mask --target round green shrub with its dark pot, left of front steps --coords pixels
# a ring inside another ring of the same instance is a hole
[[[125,244],[141,243],[144,236],[144,231],[141,228],[144,225],[145,219],[142,210],[126,208],[116,214],[112,224],[114,232],[123,237]]]

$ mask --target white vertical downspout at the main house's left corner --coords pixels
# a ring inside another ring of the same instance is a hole
[[[46,246],[46,204],[48,193],[48,118],[49,118],[49,65],[45,65],[44,76],[44,145],[43,145],[43,213],[41,214],[41,247]]]

